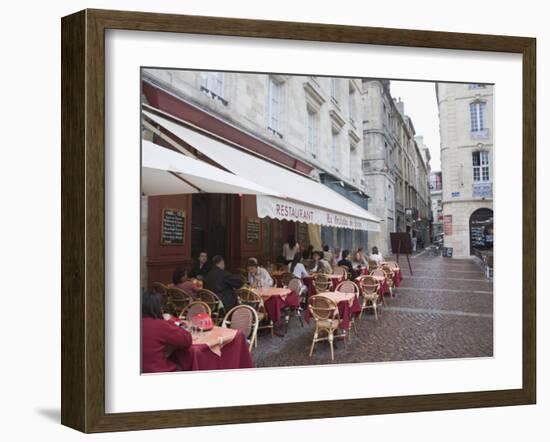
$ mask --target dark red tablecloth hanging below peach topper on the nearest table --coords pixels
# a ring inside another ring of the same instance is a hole
[[[241,332],[222,347],[220,356],[206,344],[193,344],[186,350],[174,352],[173,357],[184,371],[254,368],[248,342]]]

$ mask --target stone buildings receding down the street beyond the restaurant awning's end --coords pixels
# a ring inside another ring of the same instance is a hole
[[[404,103],[391,96],[388,80],[363,80],[363,137],[369,210],[383,220],[381,231],[371,233],[371,244],[388,253],[390,232],[409,232],[427,245],[429,155],[415,139]]]

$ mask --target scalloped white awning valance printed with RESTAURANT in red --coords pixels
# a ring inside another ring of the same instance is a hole
[[[304,203],[285,200],[267,195],[256,196],[258,217],[270,217],[286,219],[307,224],[321,226],[340,227],[354,230],[380,231],[380,225],[376,221],[370,221],[355,216],[344,215],[337,212],[309,206]]]

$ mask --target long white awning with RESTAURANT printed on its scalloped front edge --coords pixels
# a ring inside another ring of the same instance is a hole
[[[260,218],[270,217],[348,229],[380,230],[380,218],[311,178],[167,118],[147,111],[143,113],[224,169],[241,178],[276,189],[277,194],[267,193],[256,197]]]

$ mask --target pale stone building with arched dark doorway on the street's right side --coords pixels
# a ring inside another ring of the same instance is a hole
[[[493,86],[436,83],[444,247],[468,257],[493,244]]]

